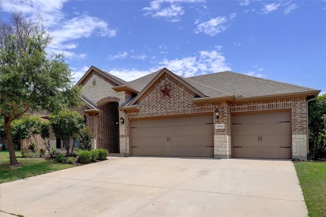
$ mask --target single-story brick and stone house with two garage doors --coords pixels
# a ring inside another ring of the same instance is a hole
[[[223,159],[307,159],[307,104],[320,91],[229,71],[184,78],[166,68],[126,82],[93,66],[76,85],[94,148]]]

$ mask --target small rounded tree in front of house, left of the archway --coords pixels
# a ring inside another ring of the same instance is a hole
[[[49,116],[50,126],[57,138],[61,138],[67,150],[67,156],[72,156],[73,145],[70,140],[76,138],[84,128],[84,116],[76,111],[64,110]]]

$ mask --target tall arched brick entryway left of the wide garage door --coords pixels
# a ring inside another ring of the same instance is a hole
[[[101,113],[97,123],[97,147],[109,153],[119,153],[119,103],[106,102],[99,104]]]

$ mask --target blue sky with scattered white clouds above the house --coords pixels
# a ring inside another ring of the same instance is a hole
[[[161,68],[233,71],[326,92],[326,1],[2,0],[39,13],[75,80],[92,65],[126,81]]]

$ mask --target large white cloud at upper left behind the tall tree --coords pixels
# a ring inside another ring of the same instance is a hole
[[[85,58],[86,54],[78,54],[73,49],[78,47],[75,40],[89,38],[97,34],[99,37],[114,37],[116,30],[108,27],[108,23],[98,17],[88,14],[76,14],[71,19],[66,19],[63,6],[67,0],[10,0],[2,1],[1,10],[11,13],[21,11],[27,18],[36,18],[38,14],[44,19],[46,27],[53,37],[48,46],[49,52],[63,53],[68,58]],[[68,51],[69,50],[69,51]]]

